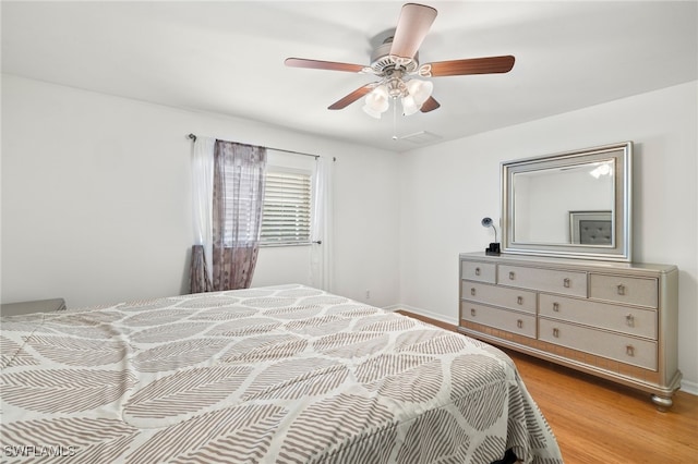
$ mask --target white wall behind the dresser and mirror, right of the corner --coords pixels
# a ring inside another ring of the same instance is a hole
[[[402,154],[400,302],[449,322],[458,254],[493,239],[500,162],[634,141],[634,260],[679,268],[684,386],[698,392],[698,83]]]

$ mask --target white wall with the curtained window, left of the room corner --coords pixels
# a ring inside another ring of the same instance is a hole
[[[336,157],[336,293],[398,300],[398,156],[262,123],[2,76],[3,303],[69,306],[188,289],[189,133]],[[360,182],[359,182],[360,180]],[[371,228],[366,224],[374,224]],[[305,283],[265,248],[255,284]]]

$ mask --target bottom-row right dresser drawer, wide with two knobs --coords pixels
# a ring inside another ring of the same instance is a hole
[[[571,323],[539,319],[539,339],[621,363],[657,370],[657,342]]]

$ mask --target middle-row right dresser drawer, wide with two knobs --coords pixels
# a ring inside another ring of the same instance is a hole
[[[657,312],[541,293],[539,314],[657,340]]]

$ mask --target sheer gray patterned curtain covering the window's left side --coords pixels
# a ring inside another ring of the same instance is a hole
[[[260,249],[266,148],[216,141],[213,290],[246,289]]]

